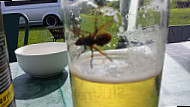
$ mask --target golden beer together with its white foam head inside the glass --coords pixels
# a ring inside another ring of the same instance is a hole
[[[97,55],[93,68],[88,55],[75,60],[70,67],[74,107],[157,107],[161,66],[153,53],[137,51],[107,53],[112,62]]]

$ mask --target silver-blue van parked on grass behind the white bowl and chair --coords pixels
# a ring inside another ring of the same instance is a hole
[[[55,26],[63,22],[61,0],[2,1],[1,8],[3,14],[23,14],[30,25]]]

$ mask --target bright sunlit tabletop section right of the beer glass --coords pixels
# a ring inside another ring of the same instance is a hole
[[[168,44],[160,107],[190,105],[190,42]]]

